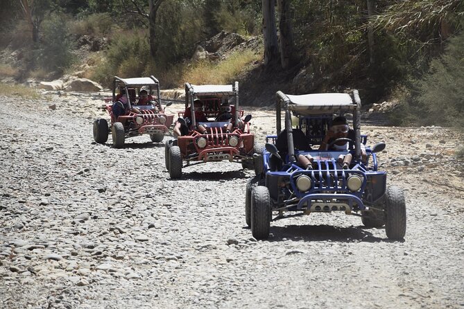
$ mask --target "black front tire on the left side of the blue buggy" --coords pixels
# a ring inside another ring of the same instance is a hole
[[[269,190],[265,186],[256,186],[251,191],[251,233],[256,239],[269,237],[270,217]]]

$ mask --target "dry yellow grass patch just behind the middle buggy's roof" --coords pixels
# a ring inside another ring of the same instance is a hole
[[[260,59],[261,55],[257,55],[252,51],[236,52],[218,64],[198,62],[198,64],[184,71],[183,79],[195,85],[230,84],[248,65]]]

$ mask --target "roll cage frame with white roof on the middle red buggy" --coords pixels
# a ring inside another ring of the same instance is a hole
[[[196,118],[194,111],[194,98],[198,96],[234,96],[235,113],[234,123],[239,119],[239,82],[234,82],[233,85],[191,85],[185,83],[185,108],[189,106],[191,111],[191,123],[196,127]]]

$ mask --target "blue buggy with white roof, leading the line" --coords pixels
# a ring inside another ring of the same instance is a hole
[[[351,134],[320,150],[335,115],[352,118]],[[277,91],[277,134],[266,137],[265,150],[259,154],[262,172],[246,185],[246,223],[255,238],[268,238],[274,220],[334,211],[360,216],[366,227],[385,225],[390,239],[404,238],[404,194],[386,186],[387,173],[377,170],[376,156],[385,143],[366,147],[360,118],[356,90],[305,95]],[[333,150],[330,146],[335,143],[347,146]]]

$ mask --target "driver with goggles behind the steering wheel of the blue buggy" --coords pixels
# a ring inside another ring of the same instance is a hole
[[[346,118],[343,116],[336,116],[332,120],[332,126],[330,127],[330,130],[327,132],[327,134],[325,134],[323,141],[320,143],[319,150],[348,150],[349,142],[347,141],[338,141],[331,145],[329,148],[328,145],[336,139],[351,139],[352,141],[355,139],[354,130],[350,129]],[[366,161],[366,148],[364,147],[363,143],[361,143],[361,156],[362,160]]]

